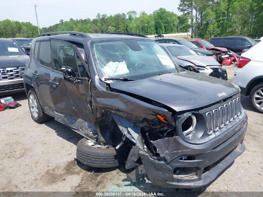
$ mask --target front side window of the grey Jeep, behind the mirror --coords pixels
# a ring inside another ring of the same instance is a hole
[[[72,45],[58,40],[51,40],[51,53],[54,70],[60,71],[62,66],[71,67],[79,77],[74,48]]]

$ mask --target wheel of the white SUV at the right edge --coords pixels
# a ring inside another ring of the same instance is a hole
[[[252,106],[260,113],[263,113],[263,83],[253,87],[249,98]]]

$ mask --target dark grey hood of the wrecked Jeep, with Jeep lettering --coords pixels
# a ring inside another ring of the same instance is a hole
[[[110,87],[152,99],[176,111],[208,106],[240,91],[228,81],[190,71],[138,81],[113,82]],[[218,93],[223,92],[226,96],[218,97]]]

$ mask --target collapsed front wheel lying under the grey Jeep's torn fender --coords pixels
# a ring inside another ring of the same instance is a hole
[[[88,143],[89,140],[86,138],[77,143],[77,160],[91,167],[118,167],[124,164],[130,152],[130,148],[125,144],[116,150],[115,148],[102,148],[100,145],[90,146]]]

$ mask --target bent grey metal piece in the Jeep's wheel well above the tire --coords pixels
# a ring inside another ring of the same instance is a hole
[[[138,138],[138,135],[141,131],[141,128],[134,125],[130,121],[112,114],[112,117],[114,118],[116,124],[120,128],[121,132],[126,135],[126,137],[131,140],[132,142],[136,143],[136,140]]]

